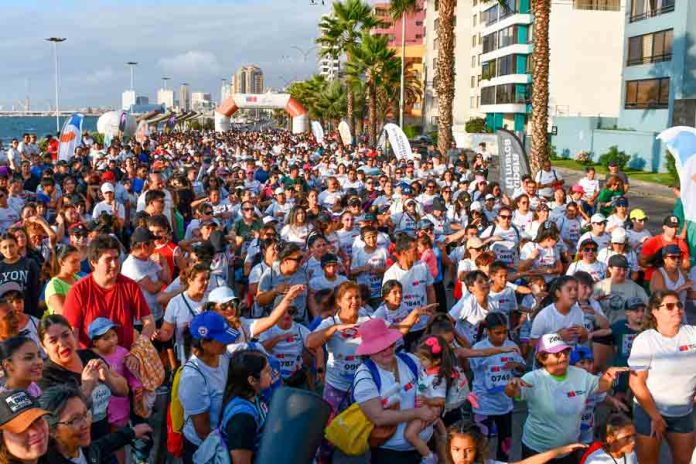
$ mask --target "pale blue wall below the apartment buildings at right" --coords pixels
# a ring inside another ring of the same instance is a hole
[[[655,139],[658,133],[606,128],[615,121],[613,118],[556,117],[553,124],[558,133],[552,136],[551,144],[564,158],[575,159],[580,151],[589,151],[595,161],[616,145],[631,156],[629,167],[664,172],[665,148]]]

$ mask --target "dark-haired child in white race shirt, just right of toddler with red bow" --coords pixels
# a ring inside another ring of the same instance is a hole
[[[474,349],[493,347],[517,347],[507,338],[508,322],[502,313],[486,316],[487,338],[476,343]],[[496,459],[507,461],[512,447],[512,399],[505,394],[505,385],[515,371],[524,369],[524,360],[516,353],[501,353],[469,360],[474,372],[474,394],[478,405],[474,406],[476,425],[488,438],[496,435]]]

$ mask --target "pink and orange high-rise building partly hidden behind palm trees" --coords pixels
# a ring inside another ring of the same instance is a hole
[[[407,73],[419,82],[422,90],[424,84],[423,61],[425,58],[425,7],[424,0],[419,0],[416,10],[405,17],[403,27],[405,34],[405,65]],[[462,3],[462,2],[459,2]],[[389,39],[389,48],[396,52],[396,56],[401,57],[402,42],[402,21],[393,20],[389,14],[390,4],[388,2],[375,3],[373,5],[375,16],[384,23],[381,28],[373,29],[373,34],[383,35]],[[404,122],[406,124],[421,125],[422,123],[423,100],[418,100],[404,107]],[[398,115],[394,115],[398,120]]]

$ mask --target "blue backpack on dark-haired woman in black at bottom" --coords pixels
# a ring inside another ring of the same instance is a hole
[[[260,432],[265,421],[254,404],[244,398],[234,397],[227,403],[218,426],[208,434],[193,454],[194,464],[231,464],[230,452],[225,442],[225,427],[230,419],[237,414],[248,414],[253,417],[254,422],[256,422],[257,437],[261,436]]]

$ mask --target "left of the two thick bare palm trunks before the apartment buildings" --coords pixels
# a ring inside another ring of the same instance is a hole
[[[446,153],[452,144],[452,101],[454,100],[454,7],[457,0],[438,1],[437,67],[437,146]]]

